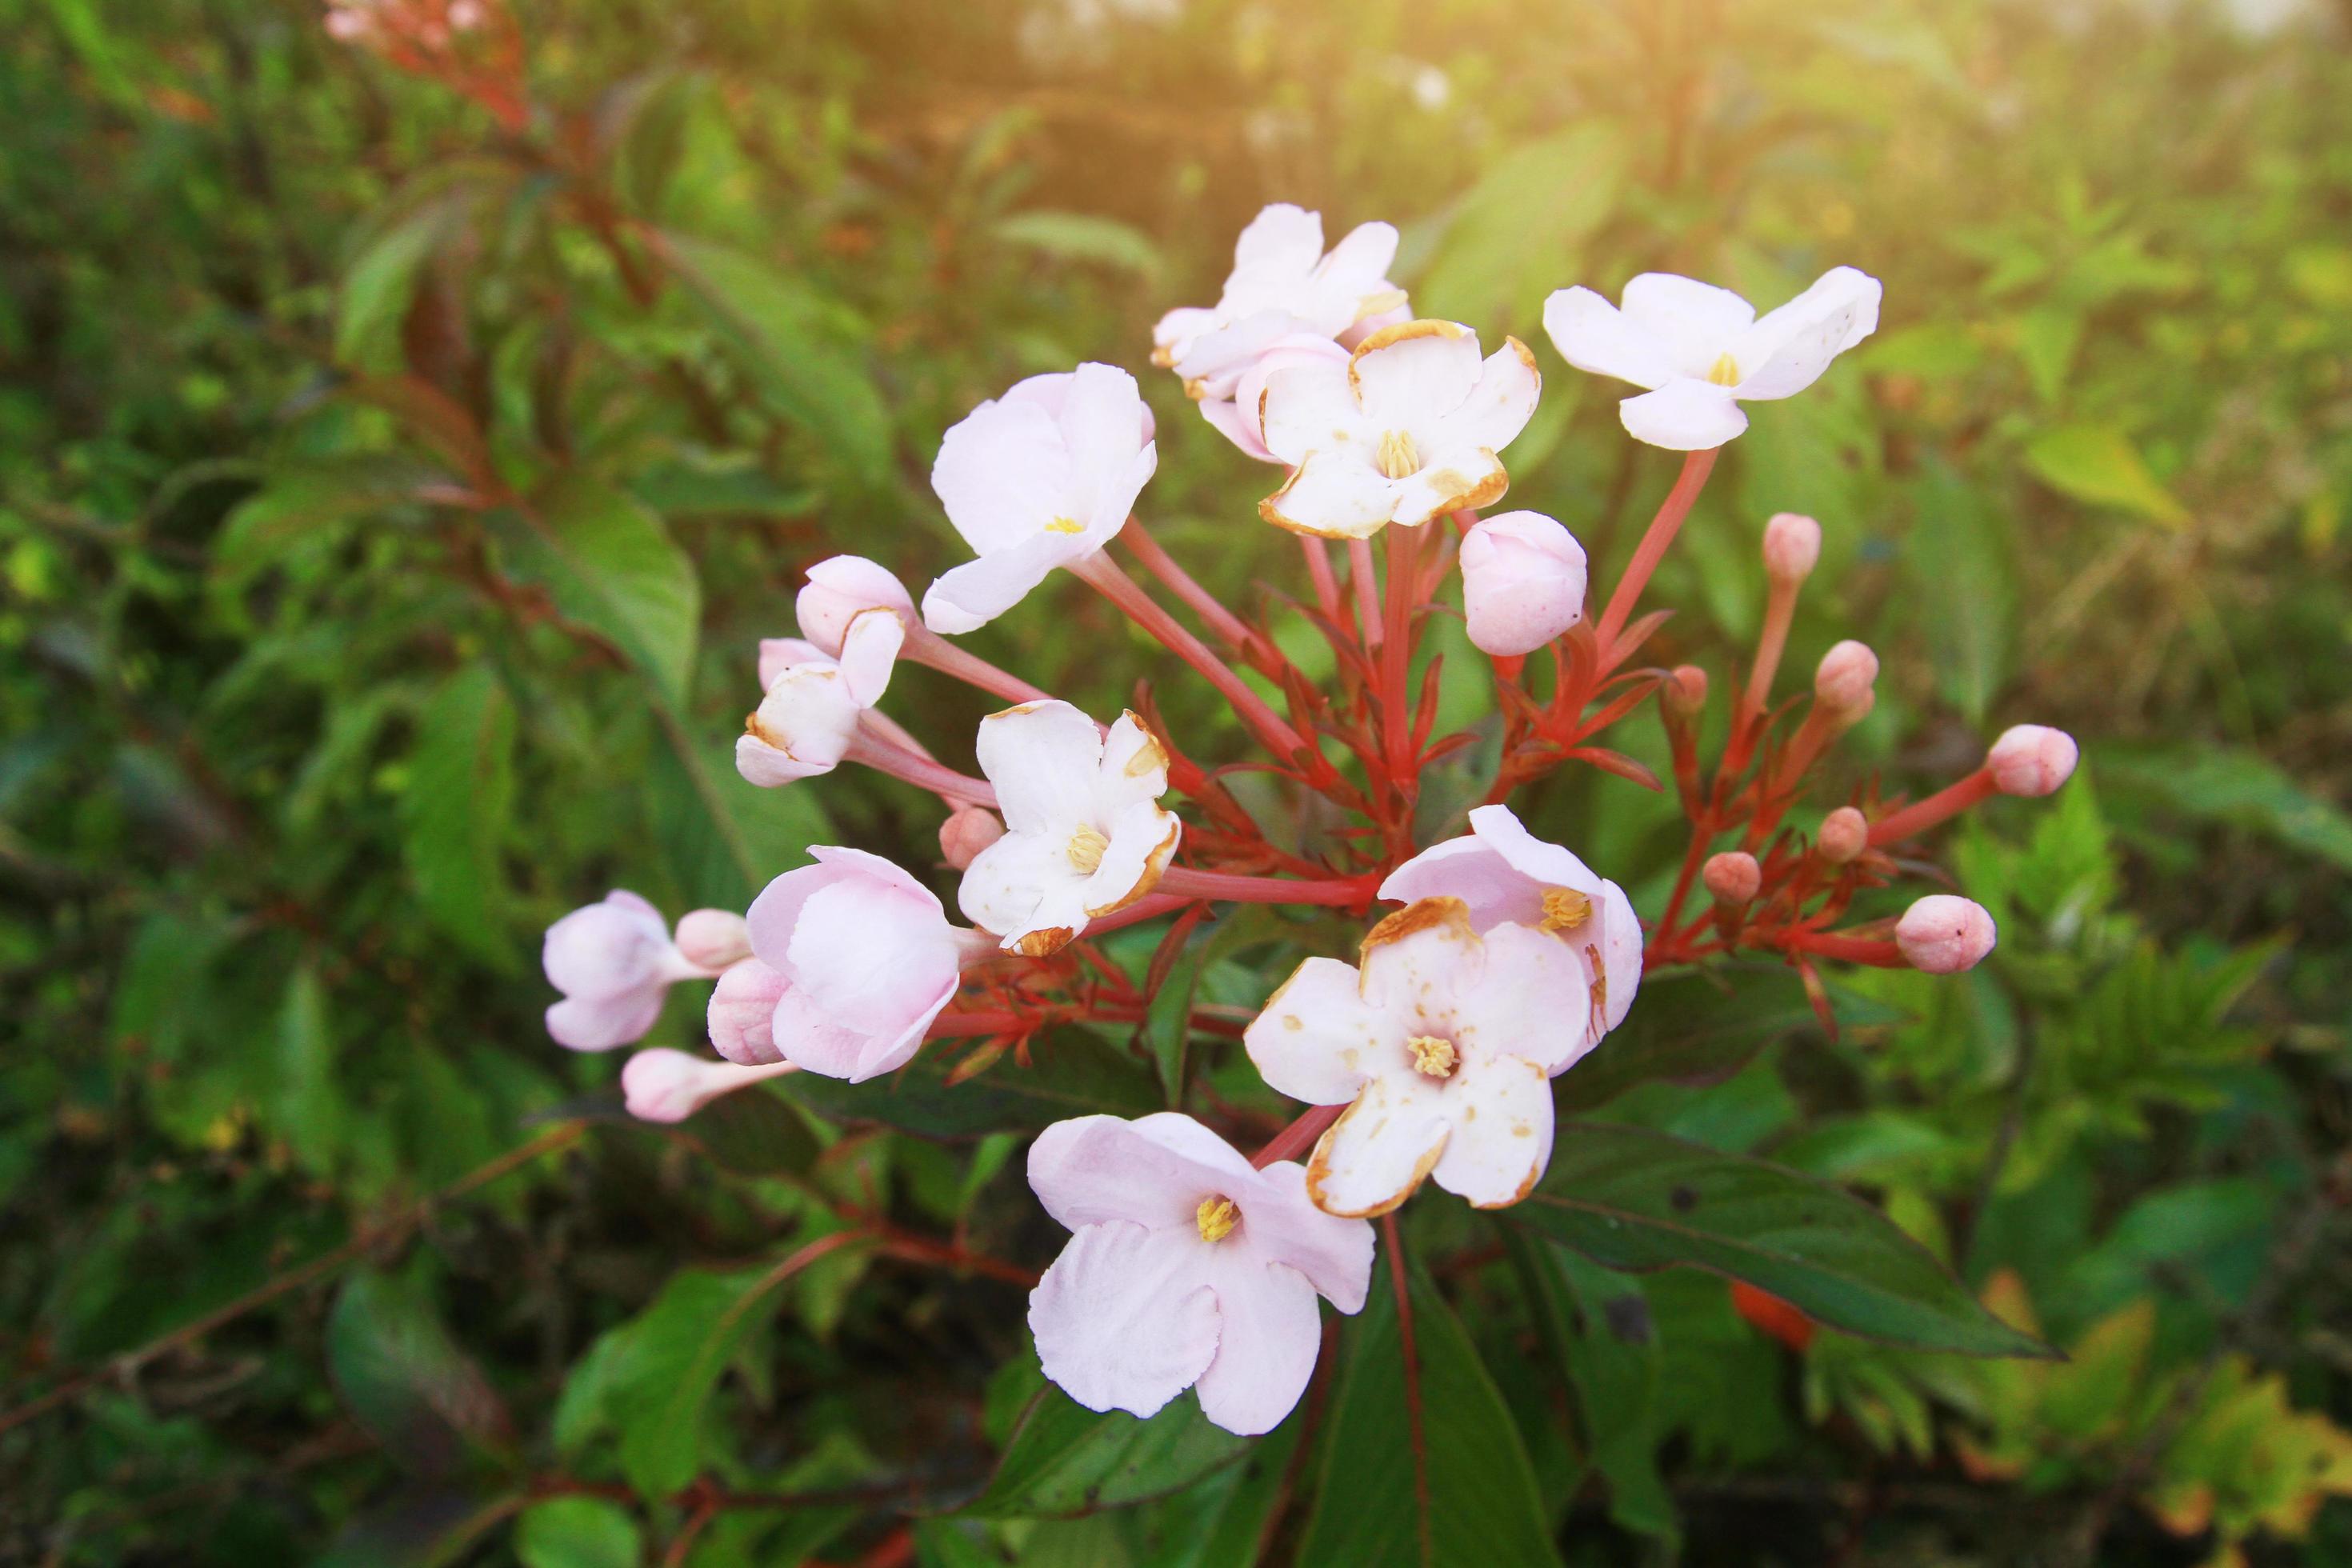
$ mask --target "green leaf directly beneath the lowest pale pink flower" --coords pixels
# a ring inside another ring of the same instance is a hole
[[[1056,1387],[1030,1401],[988,1488],[962,1507],[976,1519],[1073,1519],[1183,1490],[1249,1453],[1251,1439],[1209,1425],[1178,1394],[1150,1420],[1096,1415]]]

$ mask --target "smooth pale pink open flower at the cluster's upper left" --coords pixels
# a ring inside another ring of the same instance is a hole
[[[1157,461],[1136,378],[1110,364],[1033,376],[976,407],[938,444],[931,489],[978,559],[931,583],[924,625],[978,630],[1108,545]]]

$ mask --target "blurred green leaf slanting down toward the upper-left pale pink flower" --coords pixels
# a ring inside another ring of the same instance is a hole
[[[863,364],[863,336],[840,301],[706,240],[663,235],[663,261],[710,313],[767,404],[807,425],[868,487],[891,470],[889,404]]]

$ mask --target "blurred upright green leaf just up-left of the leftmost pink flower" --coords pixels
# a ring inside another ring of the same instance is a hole
[[[416,719],[400,797],[416,900],[477,957],[513,966],[501,844],[515,802],[515,703],[489,665],[452,675]]]

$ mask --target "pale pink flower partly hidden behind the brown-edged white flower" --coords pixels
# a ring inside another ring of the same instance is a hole
[[[1423,849],[1388,875],[1381,898],[1461,898],[1479,933],[1515,922],[1573,947],[1592,985],[1588,1039],[1576,1056],[1618,1027],[1642,990],[1642,922],[1625,889],[1531,835],[1510,806],[1477,806],[1470,837]]]

